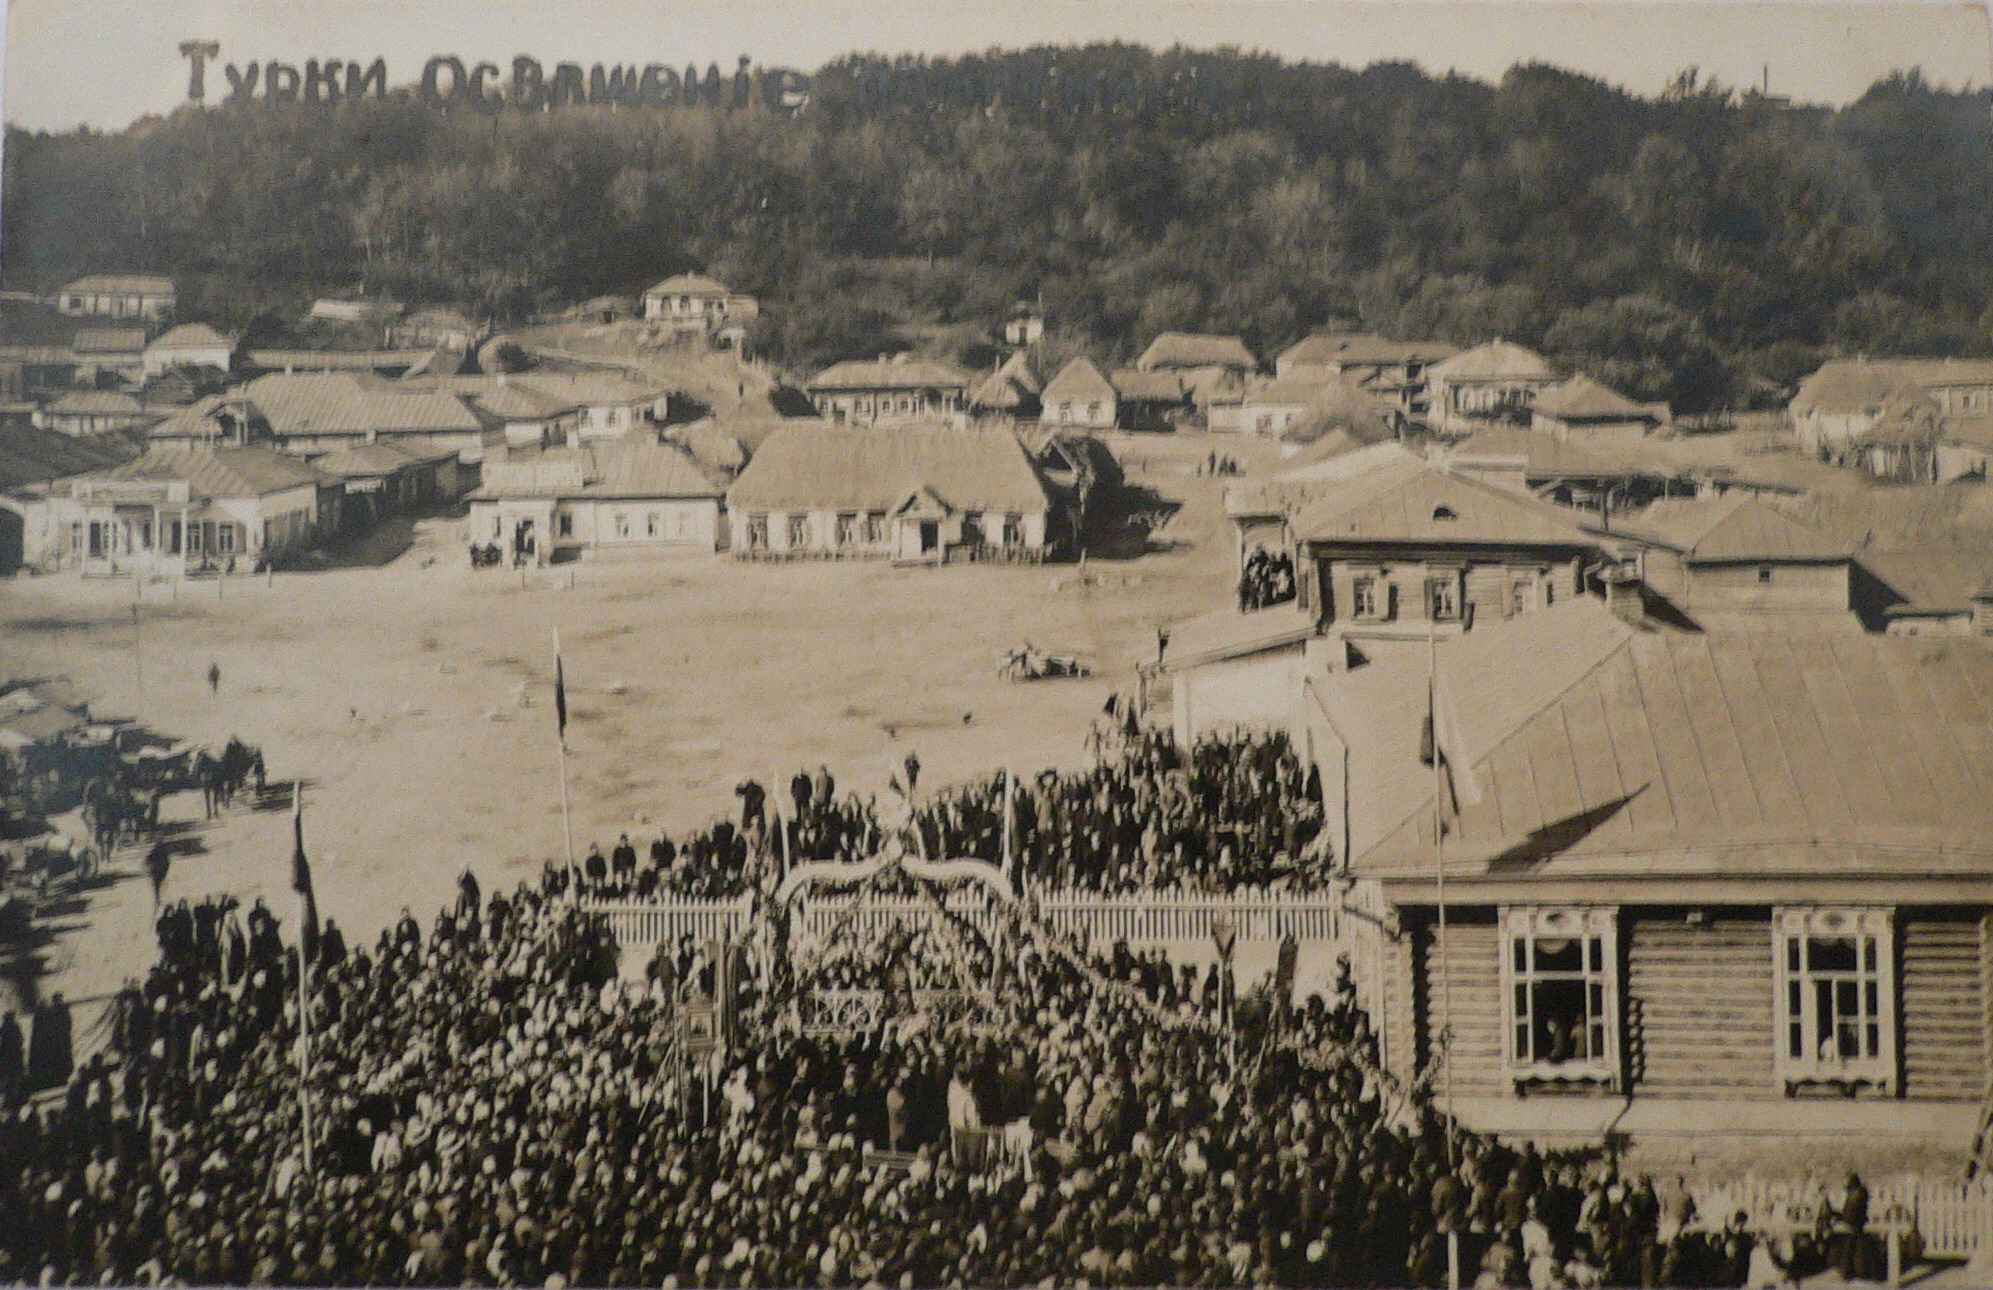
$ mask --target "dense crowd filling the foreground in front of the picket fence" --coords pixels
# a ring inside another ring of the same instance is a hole
[[[327,927],[309,993],[269,909],[161,911],[106,1051],[0,1121],[0,1280],[1439,1286],[1449,1234],[1483,1286],[1766,1258],[1644,1178],[1449,1129],[1347,983],[1240,995],[1008,909],[769,917],[731,971],[682,945],[646,987],[562,881],[468,879],[373,947]],[[865,987],[863,1023],[811,1025]],[[731,1045],[680,1025],[702,997]]]

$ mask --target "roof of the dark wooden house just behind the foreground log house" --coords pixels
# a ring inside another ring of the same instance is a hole
[[[1303,542],[1421,542],[1580,546],[1598,536],[1576,510],[1539,502],[1469,475],[1411,459],[1387,463],[1293,516]]]

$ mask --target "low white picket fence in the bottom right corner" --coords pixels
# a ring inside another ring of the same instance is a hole
[[[1756,1178],[1690,1186],[1696,1212],[1710,1228],[1744,1210],[1762,1232],[1812,1230],[1838,1182]],[[1929,1258],[1973,1258],[1993,1250],[1993,1184],[1905,1174],[1869,1184],[1869,1230],[1881,1236],[1915,1232]]]

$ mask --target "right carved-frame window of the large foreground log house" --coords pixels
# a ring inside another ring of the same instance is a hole
[[[1778,911],[1778,1065],[1788,1083],[1891,1083],[1895,967],[1887,909]]]

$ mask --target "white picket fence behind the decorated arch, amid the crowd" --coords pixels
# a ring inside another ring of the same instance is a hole
[[[1054,931],[1084,937],[1092,945],[1172,945],[1212,941],[1212,925],[1220,915],[1232,919],[1242,943],[1280,941],[1339,941],[1343,935],[1341,901],[1333,893],[1281,895],[1198,895],[1198,893],[1138,893],[1092,895],[1048,893],[1036,897],[1040,919]],[[993,931],[996,913],[979,893],[957,893],[947,899],[951,913],[979,931]],[[747,897],[723,901],[584,901],[582,909],[608,919],[610,931],[624,947],[696,939],[731,937],[747,925]],[[799,909],[797,931],[821,939],[839,931],[865,935],[885,931],[895,923],[919,923],[935,917],[925,899],[879,899],[829,895],[807,897]]]

